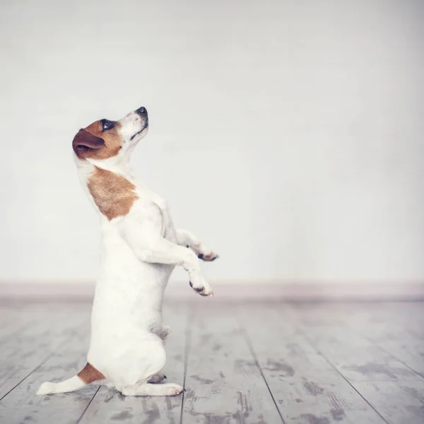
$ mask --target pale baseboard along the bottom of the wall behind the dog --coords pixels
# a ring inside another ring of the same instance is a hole
[[[215,301],[424,300],[424,282],[216,281],[211,285]],[[93,300],[93,295],[93,281],[78,283],[0,282],[0,300],[2,302],[10,300],[90,302]],[[195,300],[199,296],[189,288],[187,282],[171,281],[165,292],[165,298],[189,301]]]

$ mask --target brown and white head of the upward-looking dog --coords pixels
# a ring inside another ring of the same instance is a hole
[[[100,119],[80,129],[72,141],[78,159],[106,160],[131,153],[148,130],[146,107],[140,107],[119,119]]]

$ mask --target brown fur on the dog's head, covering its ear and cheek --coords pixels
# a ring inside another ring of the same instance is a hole
[[[72,141],[72,148],[79,159],[108,159],[116,156],[122,146],[118,134],[119,122],[111,129],[103,129],[103,119],[80,129]]]

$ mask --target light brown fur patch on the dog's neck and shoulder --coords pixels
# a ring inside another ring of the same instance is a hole
[[[139,199],[134,192],[135,188],[132,182],[121,175],[98,167],[95,167],[88,178],[88,190],[100,212],[108,220],[129,213],[134,201]]]

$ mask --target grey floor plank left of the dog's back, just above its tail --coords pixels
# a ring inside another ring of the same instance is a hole
[[[36,310],[29,315],[29,325],[1,347],[0,399],[64,342],[76,336],[83,323],[88,326],[88,316],[87,311],[74,311],[71,308]]]

